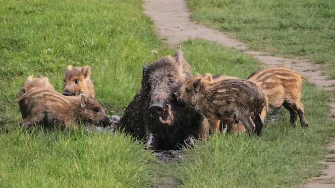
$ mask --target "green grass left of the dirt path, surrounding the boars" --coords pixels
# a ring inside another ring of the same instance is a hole
[[[17,129],[15,101],[28,75],[42,74],[58,91],[67,65],[90,65],[96,98],[122,114],[140,87],[142,66],[173,54],[153,32],[138,1],[0,1],[0,187],[290,186],[319,174],[316,163],[335,130],[327,94],[303,88],[309,129],[289,126],[279,110],[260,138],[213,136],[161,164],[123,134]],[[245,78],[261,65],[251,56],[204,40],[182,44],[194,73]],[[158,52],[157,55],[152,50]]]

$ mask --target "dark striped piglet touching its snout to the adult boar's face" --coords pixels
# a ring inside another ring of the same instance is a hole
[[[206,116],[211,133],[219,132],[217,122],[221,120],[229,132],[235,125],[243,124],[248,132],[259,135],[263,127],[260,113],[267,106],[263,91],[255,83],[241,79],[210,83],[192,77],[178,90],[177,100]]]

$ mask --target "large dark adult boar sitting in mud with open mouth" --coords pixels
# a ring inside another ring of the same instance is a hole
[[[175,57],[165,56],[144,67],[141,89],[126,108],[117,129],[139,139],[153,136],[152,145],[158,150],[178,149],[190,137],[206,137],[208,120],[199,112],[180,106],[173,98],[173,93],[191,75],[181,50]]]

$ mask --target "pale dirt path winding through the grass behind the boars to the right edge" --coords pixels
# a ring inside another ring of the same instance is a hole
[[[183,0],[145,0],[143,7],[145,13],[154,21],[158,33],[162,38],[167,39],[166,43],[170,46],[176,46],[189,38],[216,41],[254,56],[266,67],[285,66],[295,70],[315,84],[318,89],[335,90],[335,80],[328,80],[326,76],[321,76],[319,66],[308,60],[267,56],[262,52],[248,49],[248,46],[241,41],[192,22],[189,19],[191,13],[187,11],[186,3]],[[335,101],[330,102],[330,107],[332,117],[335,117]],[[335,140],[330,143],[328,148],[335,149]],[[334,156],[330,157],[335,157],[335,154],[331,155]],[[325,162],[325,164],[328,165],[328,168],[324,170],[325,175],[311,178],[313,183],[308,183],[304,187],[335,187],[335,163]]]

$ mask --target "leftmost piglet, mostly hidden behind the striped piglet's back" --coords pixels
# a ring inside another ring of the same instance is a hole
[[[42,77],[41,75],[38,75],[36,78],[29,76],[24,86],[20,89],[19,97],[32,88],[45,88],[54,90],[48,78]]]

